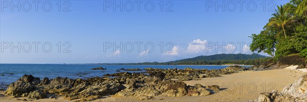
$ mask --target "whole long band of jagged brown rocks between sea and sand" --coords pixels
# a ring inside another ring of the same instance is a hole
[[[153,71],[154,70],[154,71]],[[151,99],[157,95],[170,97],[205,96],[218,92],[218,86],[187,86],[184,82],[197,78],[219,77],[220,74],[235,73],[240,70],[207,70],[207,69],[153,69],[146,73],[118,72],[105,74],[106,77],[89,79],[68,79],[57,77],[44,78],[40,81],[32,75],[24,75],[12,83],[6,91],[7,96],[28,97],[29,99],[63,96],[68,100],[91,101],[104,95],[127,97],[137,100]],[[116,78],[107,78],[116,77]],[[179,79],[173,81],[170,79]],[[214,92],[213,92],[214,91]]]

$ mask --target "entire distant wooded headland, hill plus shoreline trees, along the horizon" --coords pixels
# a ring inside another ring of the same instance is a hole
[[[210,56],[198,56],[195,58],[170,61],[170,62],[143,62],[143,63],[113,63],[114,65],[224,65],[224,64],[245,64],[258,65],[271,59],[271,57],[259,54],[216,54]],[[107,63],[104,63],[107,64]],[[107,64],[112,65],[112,64]]]

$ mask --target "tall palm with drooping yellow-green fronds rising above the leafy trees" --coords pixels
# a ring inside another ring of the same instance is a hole
[[[276,13],[273,13],[272,15],[274,17],[272,17],[270,19],[270,22],[268,23],[269,26],[275,26],[275,27],[282,27],[283,30],[283,34],[284,34],[284,38],[286,37],[286,31],[284,30],[284,26],[287,24],[287,22],[289,22],[292,17],[290,14],[290,9],[285,9],[283,8],[282,5],[277,6],[278,10],[275,9]]]

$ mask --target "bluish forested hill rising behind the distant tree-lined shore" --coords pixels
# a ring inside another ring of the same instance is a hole
[[[182,59],[170,62],[183,62],[183,61],[221,61],[221,60],[253,60],[259,58],[266,58],[267,56],[259,55],[259,54],[216,54],[210,56],[198,56],[189,59]]]

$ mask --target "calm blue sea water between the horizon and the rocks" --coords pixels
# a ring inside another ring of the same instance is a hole
[[[91,68],[103,67],[106,70],[92,70]],[[195,69],[222,69],[227,66],[221,65],[72,65],[72,64],[0,64],[0,86],[9,85],[15,82],[24,74],[32,74],[41,80],[45,77],[53,79],[56,77],[67,77],[70,79],[86,79],[92,77],[102,77],[103,74],[116,73],[120,68],[175,68],[185,67]],[[248,67],[248,66],[245,66]],[[123,71],[123,70],[121,70]],[[128,71],[141,72],[141,71]],[[81,76],[80,76],[81,75]]]

